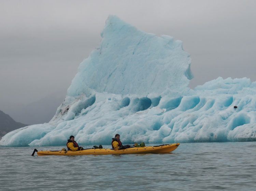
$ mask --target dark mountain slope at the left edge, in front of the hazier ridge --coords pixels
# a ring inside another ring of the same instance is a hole
[[[9,115],[0,110],[0,138],[10,131],[25,126],[28,125],[14,121]]]

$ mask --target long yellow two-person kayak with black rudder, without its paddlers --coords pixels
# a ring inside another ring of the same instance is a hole
[[[71,156],[71,155],[115,155],[115,154],[137,154],[137,153],[169,153],[177,149],[180,143],[173,144],[164,144],[159,146],[144,146],[144,147],[130,147],[127,149],[121,150],[112,150],[112,149],[85,149],[82,151],[37,151],[34,150],[32,156],[37,152],[38,156],[43,155],[62,155],[62,156]]]

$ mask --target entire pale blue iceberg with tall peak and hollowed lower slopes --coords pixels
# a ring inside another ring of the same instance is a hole
[[[256,82],[222,79],[187,87],[191,59],[173,37],[110,16],[49,123],[6,134],[2,146],[255,141]],[[234,108],[233,106],[237,106]]]

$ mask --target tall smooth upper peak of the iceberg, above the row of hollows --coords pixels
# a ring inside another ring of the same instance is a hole
[[[193,77],[180,40],[145,33],[116,16],[109,16],[101,36],[100,46],[80,64],[69,96],[90,95],[90,89],[158,96],[183,91]]]

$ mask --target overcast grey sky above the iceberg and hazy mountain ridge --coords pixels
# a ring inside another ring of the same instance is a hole
[[[63,92],[100,42],[108,15],[183,41],[190,87],[256,81],[256,1],[0,1],[0,110]],[[65,96],[65,95],[63,95]]]

